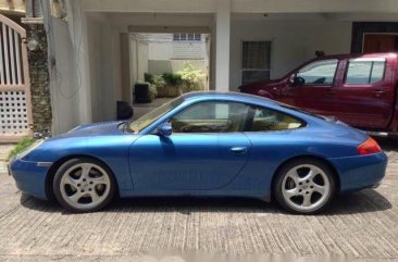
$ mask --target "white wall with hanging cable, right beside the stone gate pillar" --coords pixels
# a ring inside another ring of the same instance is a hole
[[[76,12],[79,2],[67,2],[69,22],[50,16],[43,2],[48,34],[49,71],[53,113],[52,133],[91,122],[91,103],[87,58],[86,15]],[[78,15],[77,15],[78,14]]]

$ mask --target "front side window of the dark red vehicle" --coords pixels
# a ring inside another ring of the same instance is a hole
[[[316,61],[302,67],[296,76],[304,79],[306,85],[332,85],[337,65],[337,59]]]

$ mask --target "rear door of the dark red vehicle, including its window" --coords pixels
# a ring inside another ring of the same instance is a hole
[[[335,95],[339,120],[358,127],[387,127],[394,107],[396,65],[384,58],[359,58],[344,63],[347,68]]]

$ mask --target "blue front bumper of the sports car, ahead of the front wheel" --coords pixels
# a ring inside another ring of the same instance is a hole
[[[46,195],[46,176],[49,166],[40,163],[23,161],[14,158],[9,164],[9,174],[12,175],[16,187],[27,195],[40,199],[48,199]]]

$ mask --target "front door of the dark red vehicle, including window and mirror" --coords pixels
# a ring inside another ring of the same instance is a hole
[[[281,101],[322,115],[335,115],[338,100],[334,96],[337,59],[319,60],[301,67],[286,87]],[[300,84],[294,83],[300,79]]]

